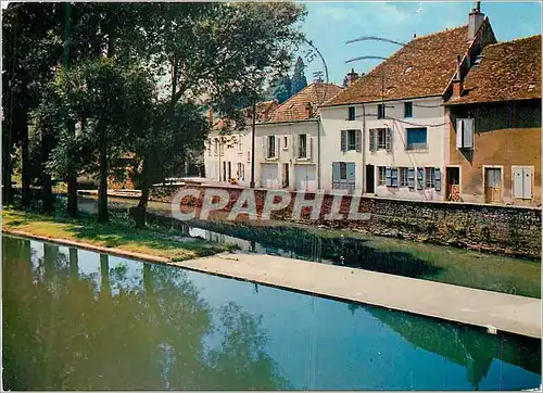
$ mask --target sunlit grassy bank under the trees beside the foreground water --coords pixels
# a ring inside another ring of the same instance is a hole
[[[108,224],[99,224],[90,215],[78,219],[63,216],[46,216],[15,210],[2,211],[2,229],[84,242],[104,248],[162,256],[172,261],[184,261],[229,251],[231,246],[201,239],[179,238],[166,228],[154,226],[136,230],[134,224],[123,215],[112,215]]]

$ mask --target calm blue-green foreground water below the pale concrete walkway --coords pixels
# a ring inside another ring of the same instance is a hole
[[[163,265],[4,236],[2,280],[10,390],[517,390],[541,382],[540,340]]]

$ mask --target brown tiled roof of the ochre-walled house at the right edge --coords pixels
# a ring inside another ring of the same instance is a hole
[[[464,94],[447,104],[541,98],[541,35],[484,47],[464,80]]]

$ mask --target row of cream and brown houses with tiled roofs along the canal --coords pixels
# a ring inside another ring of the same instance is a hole
[[[541,204],[541,36],[497,42],[476,7],[346,80],[258,104],[255,187]],[[251,186],[252,137],[214,130],[206,177]]]

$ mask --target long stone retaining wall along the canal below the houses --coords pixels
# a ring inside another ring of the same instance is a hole
[[[186,198],[182,210],[201,208],[203,186],[187,186],[199,188],[199,199]],[[215,187],[216,188],[216,187]],[[243,191],[241,188],[222,188],[227,190],[230,202],[223,208],[224,217]],[[179,190],[175,187],[160,187],[151,191],[151,199],[171,202]],[[258,216],[262,213],[266,190],[255,189],[255,200]],[[291,191],[291,203],[281,211],[273,212],[272,219],[291,220],[292,206],[296,192]],[[305,199],[313,199],[314,194],[305,193]],[[482,251],[491,251],[509,255],[541,257],[541,210],[465,204],[452,202],[406,201],[381,198],[361,196],[358,212],[369,213],[369,220],[349,220],[346,218],[353,196],[344,195],[340,213],[341,220],[326,220],[325,215],[330,212],[333,195],[325,195],[319,218],[310,218],[311,208],[302,210],[298,223],[325,225],[331,228],[345,228],[367,231],[374,234],[428,241],[437,244],[455,245]],[[239,220],[245,220],[247,215],[240,215]]]

